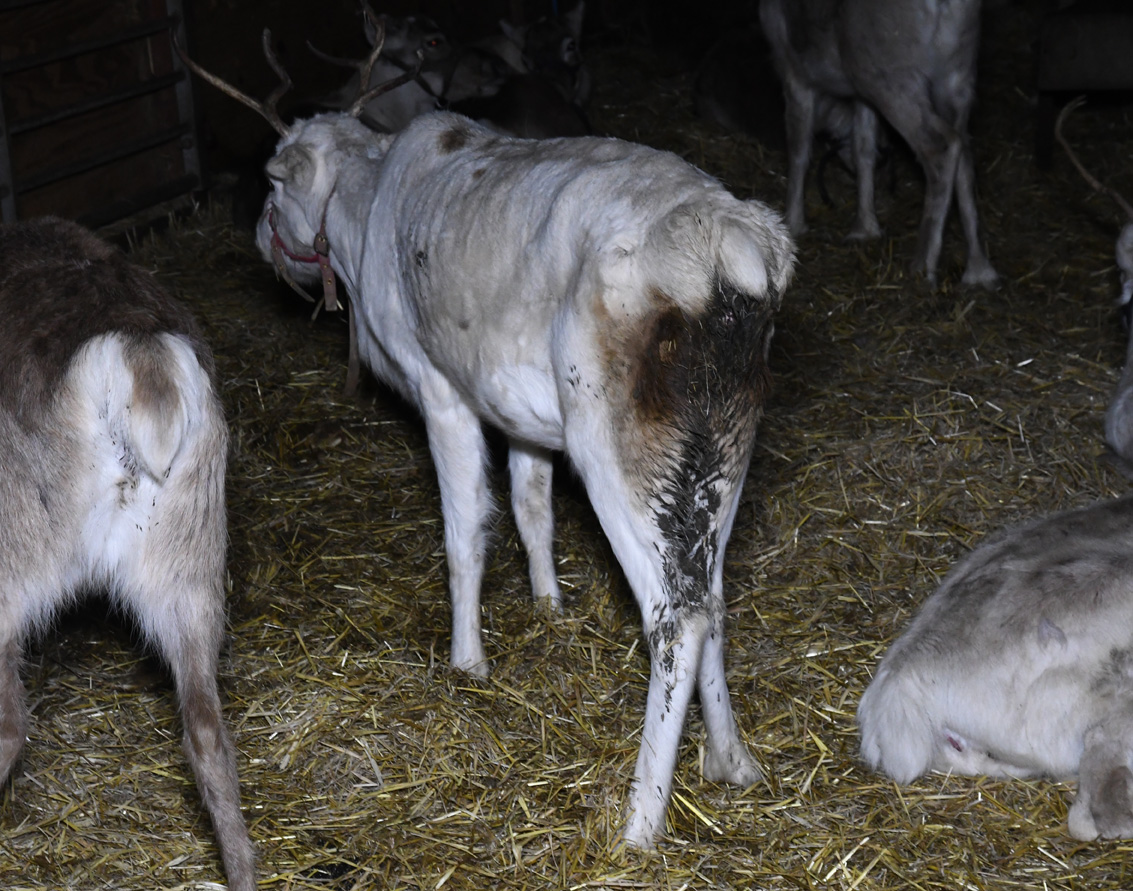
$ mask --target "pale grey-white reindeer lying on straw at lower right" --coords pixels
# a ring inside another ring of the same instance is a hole
[[[1070,778],[1070,833],[1133,838],[1133,499],[1008,529],[962,559],[881,660],[862,757]]]

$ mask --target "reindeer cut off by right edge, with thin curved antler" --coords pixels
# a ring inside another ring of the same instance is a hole
[[[1106,409],[1106,442],[1114,450],[1117,467],[1126,477],[1133,478],[1133,206],[1117,192],[1102,185],[1077,160],[1074,150],[1062,134],[1066,118],[1085,100],[1070,102],[1058,114],[1055,122],[1055,137],[1066,151],[1071,162],[1077,168],[1087,183],[1104,195],[1108,195],[1125,212],[1125,224],[1117,236],[1117,269],[1122,275],[1122,295],[1118,303],[1122,317],[1127,329],[1128,341],[1125,347],[1125,367]]]

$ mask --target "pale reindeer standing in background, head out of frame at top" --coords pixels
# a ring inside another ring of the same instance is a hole
[[[786,97],[786,221],[807,230],[803,188],[820,95],[852,100],[858,219],[851,239],[881,234],[874,211],[877,116],[925,168],[914,272],[936,275],[953,192],[968,240],[965,285],[998,280],[980,245],[968,116],[976,95],[979,0],[760,0]]]

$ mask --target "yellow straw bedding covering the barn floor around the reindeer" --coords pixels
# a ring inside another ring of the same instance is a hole
[[[954,221],[938,286],[906,274],[922,193],[909,155],[879,193],[879,241],[842,240],[847,173],[827,175],[834,206],[808,193],[725,580],[730,685],[767,779],[704,781],[695,706],[654,854],[613,847],[649,667],[570,474],[555,493],[563,614],[534,608],[502,509],[483,592],[492,676],[449,670],[440,500],[415,414],[373,382],[342,396],[346,324],[310,323],[222,201],[138,239],[137,261],[204,321],[232,430],[221,685],[264,889],[1133,884],[1127,842],[1066,834],[1073,783],[897,787],[858,760],[862,689],[961,554],[1127,491],[1102,441],[1125,350],[1122,219],[1060,154],[1034,163],[1039,7],[995,3],[985,25],[972,145],[998,290],[959,285]],[[589,58],[602,131],[782,204],[783,154],[697,120],[683,59],[613,40]],[[1133,197],[1133,105],[1093,102],[1067,135]],[[502,473],[496,491],[505,506]],[[70,614],[28,651],[33,722],[0,797],[0,886],[214,888],[169,680],[103,613]]]

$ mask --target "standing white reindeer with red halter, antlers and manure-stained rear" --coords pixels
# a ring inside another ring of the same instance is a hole
[[[758,780],[724,674],[723,571],[794,262],[778,217],[617,139],[514,139],[449,112],[397,136],[350,113],[288,127],[271,103],[227,92],[282,136],[266,168],[264,256],[310,282],[318,272],[301,258],[327,245],[363,359],[424,415],[453,667],[488,668],[486,422],[508,436],[536,599],[554,610],[562,599],[551,474],[563,450],[641,608],[651,673],[624,840],[650,847],[664,826],[695,690],[705,775]]]

